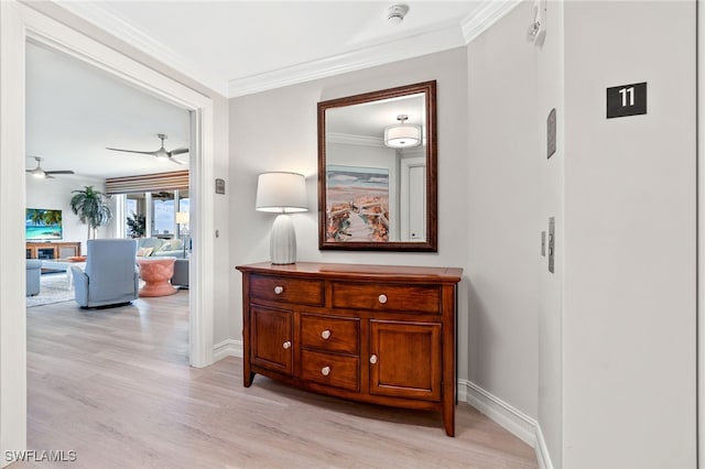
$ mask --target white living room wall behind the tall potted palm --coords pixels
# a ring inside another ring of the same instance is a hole
[[[80,251],[86,253],[88,228],[78,220],[70,210],[72,190],[83,190],[86,186],[94,186],[96,190],[105,189],[102,179],[89,179],[77,176],[55,176],[54,179],[37,179],[26,177],[26,208],[51,208],[62,210],[64,222],[63,241],[80,242]],[[106,198],[112,214],[116,214],[116,198]],[[99,238],[115,237],[115,220],[98,229]]]

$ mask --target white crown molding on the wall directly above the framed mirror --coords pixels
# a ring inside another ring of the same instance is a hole
[[[251,95],[348,72],[361,70],[377,65],[420,57],[463,45],[465,43],[458,25],[446,26],[441,30],[334,55],[319,61],[232,79],[229,83],[228,96],[235,98],[237,96]]]

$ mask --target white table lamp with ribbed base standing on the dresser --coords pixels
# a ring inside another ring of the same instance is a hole
[[[279,214],[270,237],[272,264],[296,262],[296,232],[288,214],[306,211],[306,178],[303,174],[271,172],[260,174],[254,209]]]

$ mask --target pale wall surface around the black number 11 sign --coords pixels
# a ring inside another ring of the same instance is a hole
[[[695,2],[564,8],[563,466],[694,467]]]

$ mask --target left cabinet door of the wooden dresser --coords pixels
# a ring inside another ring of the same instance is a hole
[[[292,374],[293,314],[252,306],[250,309],[250,361],[252,364]]]

